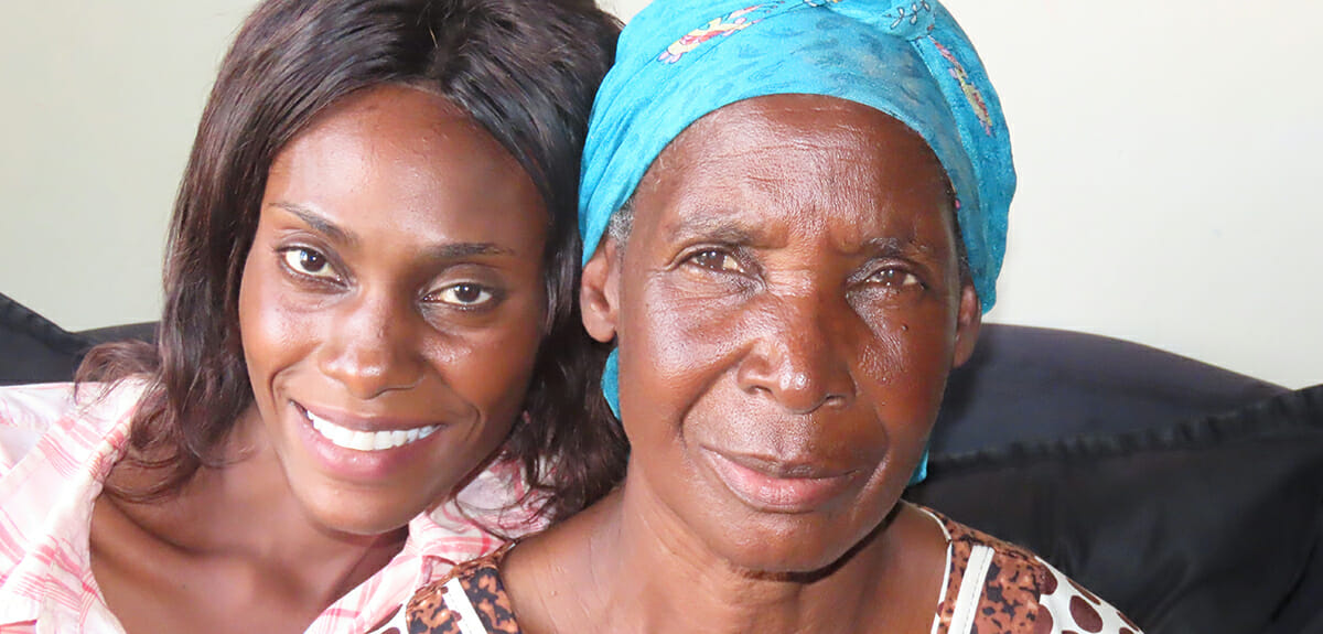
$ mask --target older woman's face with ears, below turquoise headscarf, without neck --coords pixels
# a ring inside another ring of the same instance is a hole
[[[939,163],[876,110],[763,97],[691,126],[634,204],[583,290],[619,341],[626,496],[736,565],[830,565],[894,507],[978,330]]]

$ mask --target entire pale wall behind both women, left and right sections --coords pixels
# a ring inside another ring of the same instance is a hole
[[[253,4],[4,8],[0,293],[67,328],[155,318],[193,127]],[[1020,173],[990,319],[1323,381],[1323,3],[946,4],[991,69]]]

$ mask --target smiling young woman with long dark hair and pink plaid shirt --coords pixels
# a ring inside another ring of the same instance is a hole
[[[0,393],[0,630],[365,631],[601,495],[574,204],[617,33],[590,0],[259,5],[159,343]]]

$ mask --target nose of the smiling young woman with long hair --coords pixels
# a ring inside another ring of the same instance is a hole
[[[409,389],[422,380],[409,307],[397,298],[361,294],[344,302],[328,324],[319,367],[356,398]]]

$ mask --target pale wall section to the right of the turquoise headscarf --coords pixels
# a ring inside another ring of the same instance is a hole
[[[947,5],[1020,175],[992,319],[1323,381],[1323,3]]]

